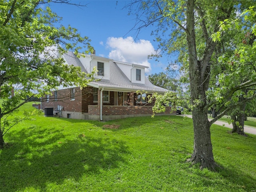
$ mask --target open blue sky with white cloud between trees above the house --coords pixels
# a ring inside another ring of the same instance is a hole
[[[162,57],[159,62],[148,60],[148,55],[157,48],[152,27],[144,28],[137,34],[130,31],[135,24],[134,16],[128,16],[124,5],[126,0],[72,0],[72,3],[86,7],[53,4],[51,9],[62,17],[61,24],[77,28],[82,36],[91,39],[91,45],[97,56],[114,60],[132,62],[148,66],[146,74],[164,71],[168,58]],[[137,36],[138,35],[138,36]],[[137,38],[136,38],[137,36]]]

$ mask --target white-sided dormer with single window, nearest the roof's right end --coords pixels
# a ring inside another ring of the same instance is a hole
[[[114,61],[132,83],[145,84],[145,68],[147,66],[128,62]]]

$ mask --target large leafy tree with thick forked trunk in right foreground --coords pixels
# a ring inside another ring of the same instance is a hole
[[[138,30],[156,22],[158,29],[152,34],[156,36],[160,48],[167,54],[178,51],[179,60],[182,61],[184,70],[189,77],[194,125],[194,151],[188,161],[193,164],[199,163],[201,168],[215,169],[218,167],[212,152],[210,126],[234,108],[238,97],[243,94],[242,90],[256,85],[256,73],[252,67],[255,66],[255,58],[253,58],[255,50],[252,54],[254,46],[246,47],[246,50],[248,49],[246,55],[244,46],[237,48],[240,61],[236,66],[233,65],[234,61],[232,62],[234,55],[223,56],[226,59],[223,62],[221,60],[214,61],[218,42],[226,40],[231,42],[235,35],[229,33],[229,36],[225,36],[220,32],[219,26],[222,26],[220,22],[227,22],[230,19],[238,23],[237,13],[248,8],[250,4],[255,4],[255,1],[144,0],[134,1],[129,5],[131,10],[134,7],[139,8],[136,12]],[[252,16],[253,14],[253,11],[247,12],[246,16],[255,18]],[[141,20],[142,15],[146,18],[143,21]],[[247,20],[243,26],[245,25],[251,27],[253,22]],[[168,38],[164,39],[166,36]],[[249,61],[249,58],[254,63],[246,68],[244,61]],[[219,60],[218,54],[215,59]],[[216,70],[219,65],[220,70]],[[245,76],[245,72],[248,70],[252,73],[250,80],[246,80],[247,75]],[[218,86],[209,86],[211,78],[218,79]],[[253,94],[250,92],[245,100],[248,100]],[[208,109],[215,104],[222,104],[223,108],[218,116],[209,121]],[[162,110],[160,105],[158,108]],[[158,108],[156,107],[156,110]]]

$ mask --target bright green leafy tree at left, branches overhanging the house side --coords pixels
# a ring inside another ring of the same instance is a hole
[[[54,26],[61,18],[49,3],[73,4],[68,0],[0,1],[0,146],[4,134],[30,116],[10,118],[30,98],[50,94],[60,85],[86,86],[92,80],[93,74],[65,65],[58,56],[67,50],[78,54],[81,48],[92,52],[92,47],[75,28]]]

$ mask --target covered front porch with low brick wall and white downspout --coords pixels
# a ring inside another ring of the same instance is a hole
[[[97,105],[88,105],[88,112],[83,115],[85,119],[99,121],[152,116],[154,103],[148,103],[146,96],[146,94],[136,94],[133,90],[98,89]],[[156,115],[175,114],[176,111],[173,111],[172,107],[166,107],[164,113]]]

